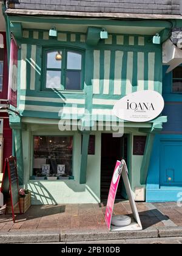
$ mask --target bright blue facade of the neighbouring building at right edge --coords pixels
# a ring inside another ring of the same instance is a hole
[[[182,99],[181,93],[172,92],[173,72],[166,74],[167,68],[163,68],[163,97],[168,122],[153,144],[147,177],[147,202],[177,202],[182,193]]]

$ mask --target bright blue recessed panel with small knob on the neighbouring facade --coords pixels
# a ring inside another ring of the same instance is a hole
[[[182,187],[182,141],[161,143],[161,187]]]

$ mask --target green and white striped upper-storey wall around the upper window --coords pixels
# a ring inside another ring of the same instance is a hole
[[[96,48],[87,46],[85,34],[24,30],[19,40],[18,110],[22,116],[59,118],[59,111],[69,113],[77,105],[78,116],[85,110],[93,115],[110,115],[113,105],[126,94],[155,90],[162,92],[162,51],[149,36],[109,35]],[[42,90],[42,49],[49,46],[83,49],[84,89],[78,93]]]

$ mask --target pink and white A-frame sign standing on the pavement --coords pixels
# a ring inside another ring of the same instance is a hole
[[[124,186],[126,188],[127,196],[129,197],[130,207],[132,208],[133,219],[132,223],[129,226],[125,227],[116,227],[111,225],[113,206],[115,203],[115,197],[118,190],[118,184],[120,182],[120,178],[123,178]],[[112,182],[110,184],[109,196],[107,200],[106,207],[106,215],[105,220],[109,231],[127,231],[127,230],[142,230],[140,216],[138,214],[138,210],[136,208],[135,200],[133,198],[132,189],[130,187],[129,178],[128,178],[128,170],[126,166],[126,162],[124,160],[117,161],[115,166],[115,171],[113,172]]]

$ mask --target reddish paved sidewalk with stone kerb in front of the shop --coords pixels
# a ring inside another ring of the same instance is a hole
[[[11,215],[0,215],[0,243],[67,243],[182,236],[182,208],[175,202],[137,203],[136,206],[142,231],[108,232],[104,220],[106,204],[32,205],[25,215],[16,216],[15,224]],[[129,202],[116,202],[113,214],[130,213]]]

